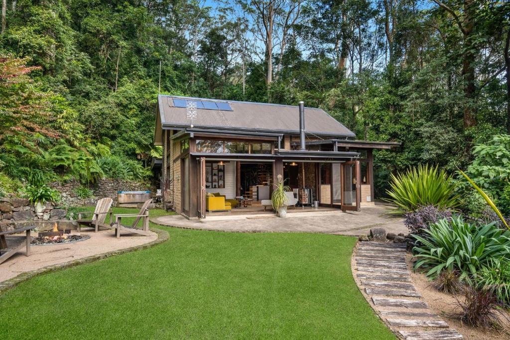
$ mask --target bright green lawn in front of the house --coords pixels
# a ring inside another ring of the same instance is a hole
[[[354,238],[161,228],[0,296],[0,338],[395,338],[352,279]]]

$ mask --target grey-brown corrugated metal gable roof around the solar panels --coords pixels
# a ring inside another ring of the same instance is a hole
[[[191,124],[186,117],[186,108],[174,106],[173,98],[228,102],[232,107],[232,111],[197,109],[197,118],[193,121],[195,127],[239,128],[299,134],[297,106],[168,95],[158,95],[162,126],[187,127]],[[307,133],[355,137],[348,128],[322,109],[305,108],[304,115],[304,127]]]

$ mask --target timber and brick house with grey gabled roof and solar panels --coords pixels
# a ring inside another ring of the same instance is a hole
[[[282,175],[302,206],[360,211],[374,204],[373,149],[322,109],[158,96],[164,200],[188,218],[270,199]],[[222,196],[215,206],[210,196]],[[236,199],[237,197],[237,199]],[[221,201],[221,202],[220,202]],[[239,203],[239,204],[238,204]]]

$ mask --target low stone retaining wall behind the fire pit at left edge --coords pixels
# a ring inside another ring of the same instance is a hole
[[[63,219],[66,215],[65,209],[49,202],[34,206],[26,198],[0,198],[0,229],[4,231],[13,230],[21,221],[52,221]]]

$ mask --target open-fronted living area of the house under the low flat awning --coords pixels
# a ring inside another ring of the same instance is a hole
[[[225,214],[270,214],[272,208],[267,205],[267,200],[278,174],[284,176],[285,184],[290,186],[298,200],[296,206],[289,207],[289,211],[360,211],[362,179],[358,152],[279,150],[277,155],[191,152],[190,156],[191,160],[196,159],[196,163],[190,163],[197,164],[198,218]],[[243,168],[261,166],[266,173],[255,173],[253,177],[262,179],[245,185]],[[224,194],[228,192],[230,197]],[[211,194],[224,196],[230,206],[212,209],[208,204],[212,201]],[[262,205],[264,200],[265,206]],[[319,208],[313,208],[315,201]]]

